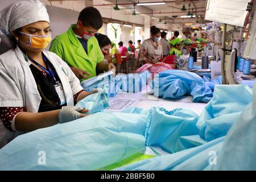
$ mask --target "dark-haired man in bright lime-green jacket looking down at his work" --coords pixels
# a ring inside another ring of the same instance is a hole
[[[100,12],[94,7],[86,7],[80,12],[76,24],[52,40],[49,51],[59,55],[80,81],[96,76],[96,68],[100,72],[115,72],[114,64],[104,63],[104,55],[94,37],[102,24]]]

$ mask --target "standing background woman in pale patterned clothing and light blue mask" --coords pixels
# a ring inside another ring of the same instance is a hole
[[[160,40],[160,29],[155,26],[150,27],[151,36],[149,39],[144,40],[139,49],[139,56],[136,61],[136,66],[142,64],[155,64],[160,58],[163,57],[162,45]]]

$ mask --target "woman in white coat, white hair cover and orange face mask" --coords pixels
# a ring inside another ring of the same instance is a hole
[[[44,50],[51,30],[40,1],[0,11],[0,37],[14,40],[0,55],[0,148],[16,135],[85,116],[88,110],[74,104],[90,93],[59,56]]]

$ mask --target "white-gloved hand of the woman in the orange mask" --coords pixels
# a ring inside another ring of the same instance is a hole
[[[88,109],[84,109],[83,107],[63,106],[59,112],[59,123],[66,123],[85,117],[86,114],[82,113],[86,112],[88,112]]]

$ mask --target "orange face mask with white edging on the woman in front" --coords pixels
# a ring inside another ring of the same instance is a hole
[[[19,33],[21,35],[26,35],[26,36],[28,36],[28,38],[30,38],[30,42],[28,44],[22,42],[21,40],[19,40],[19,42],[21,42],[22,44],[24,44],[27,47],[31,47],[34,49],[45,49],[45,48],[47,48],[47,46],[49,45],[49,43],[52,40],[51,35],[39,36],[39,35],[26,34],[24,32],[19,32]]]

